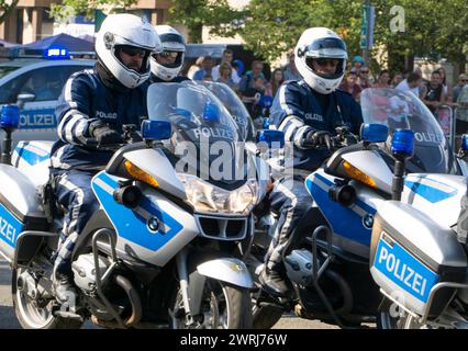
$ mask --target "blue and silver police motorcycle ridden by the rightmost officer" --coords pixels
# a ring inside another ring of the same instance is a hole
[[[370,275],[369,259],[377,208],[391,200],[393,193],[392,173],[397,163],[390,155],[389,132],[411,128],[415,133],[414,156],[405,165],[412,174],[405,179],[404,202],[423,203],[425,200],[417,200],[420,196],[428,196],[430,203],[434,201],[426,192],[427,184],[442,189],[441,194],[466,188],[466,184],[455,185],[453,179],[460,179],[456,176],[461,174],[460,166],[434,116],[417,98],[392,89],[366,89],[361,107],[365,124],[360,141],[353,145],[347,140],[353,137],[346,128],[338,128],[334,152],[305,180],[314,203],[296,228],[300,235],[292,236],[294,240],[283,250],[287,283],[292,291],[290,298],[269,296],[258,282],[277,223],[275,214],[258,206],[260,216],[246,262],[257,286],[253,294],[256,328],[270,328],[283,312],[290,310],[299,317],[342,328],[379,321],[382,298]],[[446,181],[442,183],[442,179]],[[454,201],[459,204],[459,199]],[[432,215],[445,218],[449,212],[441,204],[433,208]],[[456,214],[448,216],[452,225],[456,223]]]

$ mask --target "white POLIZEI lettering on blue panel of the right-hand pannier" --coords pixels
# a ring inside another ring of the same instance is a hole
[[[412,292],[421,297],[424,296],[427,280],[417,274],[411,267],[403,263],[393,253],[389,252],[386,247],[380,249],[378,262],[382,263],[386,270],[408,286]]]

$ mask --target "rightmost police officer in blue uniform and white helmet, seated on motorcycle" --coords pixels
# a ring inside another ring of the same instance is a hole
[[[331,143],[336,126],[346,125],[357,134],[363,123],[359,104],[347,92],[336,90],[347,60],[342,38],[328,29],[308,29],[299,38],[294,55],[302,80],[280,87],[270,115],[270,125],[285,133],[285,140],[293,144],[294,152],[294,176],[276,181],[270,194],[271,208],[280,216],[259,276],[264,288],[277,296],[288,293],[282,250],[312,205],[304,177],[330,155],[320,146]]]

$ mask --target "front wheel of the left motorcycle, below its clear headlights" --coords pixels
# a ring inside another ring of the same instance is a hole
[[[252,309],[248,290],[225,282],[207,279],[200,314],[190,322],[183,310],[180,287],[176,288],[169,309],[174,329],[247,329],[252,328]]]

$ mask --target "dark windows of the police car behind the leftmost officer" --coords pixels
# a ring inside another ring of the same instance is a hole
[[[32,93],[35,102],[57,100],[68,77],[89,66],[51,66],[27,71],[0,87],[0,103],[15,103],[19,94]]]

